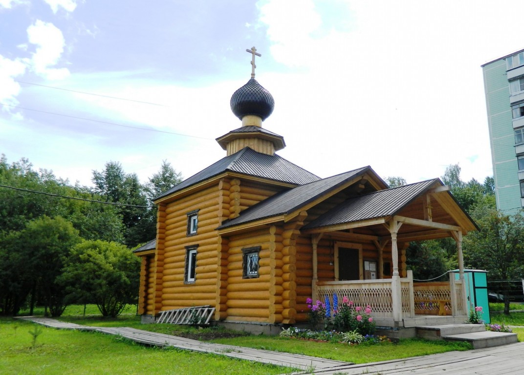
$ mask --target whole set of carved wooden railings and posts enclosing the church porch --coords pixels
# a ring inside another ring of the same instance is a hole
[[[336,294],[355,306],[371,306],[375,323],[381,327],[414,327],[445,322],[464,322],[468,313],[463,279],[449,282],[414,283],[412,271],[406,278],[322,281],[316,283],[316,298],[327,298],[333,306]]]

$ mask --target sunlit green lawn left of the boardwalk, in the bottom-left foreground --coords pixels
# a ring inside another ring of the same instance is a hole
[[[42,328],[0,318],[2,374],[278,374],[291,369],[177,349],[145,347],[117,336]]]

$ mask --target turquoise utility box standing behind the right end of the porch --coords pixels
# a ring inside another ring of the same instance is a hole
[[[459,280],[459,270],[451,271],[455,280]],[[482,307],[482,320],[489,324],[489,304],[488,304],[488,284],[486,278],[487,271],[484,270],[464,270],[464,280],[466,281],[466,296],[468,303],[468,314],[476,306]]]

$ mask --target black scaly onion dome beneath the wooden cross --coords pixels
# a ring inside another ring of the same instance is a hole
[[[241,120],[244,116],[254,115],[264,121],[274,108],[274,98],[254,78],[231,96],[231,111]]]

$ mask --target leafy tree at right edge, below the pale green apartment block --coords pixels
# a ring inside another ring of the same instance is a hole
[[[483,216],[481,216],[483,215]],[[481,230],[464,238],[464,259],[468,266],[489,271],[491,280],[524,277],[524,216],[504,215],[496,209],[478,207],[474,212]],[[504,312],[509,314],[509,300]]]

